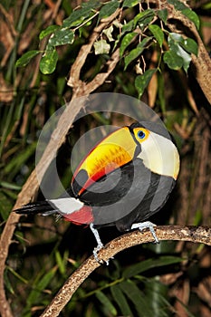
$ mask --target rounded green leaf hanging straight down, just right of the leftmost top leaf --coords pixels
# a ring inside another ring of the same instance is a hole
[[[58,53],[56,50],[53,50],[52,52],[46,51],[40,62],[40,71],[43,72],[43,74],[54,72],[57,61]]]

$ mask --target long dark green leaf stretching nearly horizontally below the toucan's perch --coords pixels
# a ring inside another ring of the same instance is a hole
[[[169,264],[177,264],[182,262],[183,259],[177,256],[160,256],[158,259],[149,259],[138,264],[130,265],[124,272],[123,276],[125,278],[130,278],[135,275],[141,274],[149,269],[158,267],[158,266],[166,266]]]

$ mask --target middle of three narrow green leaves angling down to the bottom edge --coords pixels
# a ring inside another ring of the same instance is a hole
[[[128,301],[127,301],[124,293],[121,291],[120,286],[119,285],[111,286],[110,292],[112,294],[114,301],[120,307],[120,312],[122,313],[122,315],[132,317],[133,314],[129,308]]]

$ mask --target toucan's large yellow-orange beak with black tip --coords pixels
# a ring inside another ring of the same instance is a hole
[[[120,128],[102,139],[76,168],[72,178],[74,195],[82,195],[93,182],[129,163],[134,159],[136,148],[137,143],[128,127]]]

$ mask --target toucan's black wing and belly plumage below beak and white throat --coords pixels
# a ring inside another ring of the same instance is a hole
[[[115,224],[127,230],[156,213],[174,184],[173,178],[152,173],[141,159],[135,159],[95,182],[80,199],[93,207],[96,226]]]

